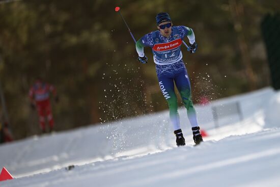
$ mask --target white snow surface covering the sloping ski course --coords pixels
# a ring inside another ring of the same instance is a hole
[[[280,186],[278,100],[266,88],[195,106],[209,134],[200,146],[183,108],[184,147],[176,147],[168,111],[4,144],[0,167],[15,179],[0,186]],[[233,102],[243,120],[230,115],[215,128],[211,108]]]

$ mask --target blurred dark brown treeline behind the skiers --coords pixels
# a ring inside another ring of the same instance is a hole
[[[194,102],[244,93],[270,84],[260,23],[278,1],[50,1],[0,4],[0,81],[16,139],[38,132],[28,91],[41,76],[57,87],[55,130],[113,121],[167,109],[151,49],[136,61],[134,42],[156,30],[155,15],[194,30],[199,45],[182,46]],[[188,43],[187,38],[185,41]],[[3,114],[3,111],[0,110]]]

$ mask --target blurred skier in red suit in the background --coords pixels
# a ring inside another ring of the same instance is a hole
[[[37,109],[40,127],[43,133],[46,132],[45,117],[47,117],[49,123],[49,130],[53,130],[54,122],[51,113],[50,93],[52,93],[55,102],[58,103],[59,97],[57,90],[53,85],[43,82],[42,78],[37,78],[35,84],[29,90],[31,107]]]

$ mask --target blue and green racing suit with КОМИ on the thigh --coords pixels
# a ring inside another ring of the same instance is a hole
[[[195,42],[192,29],[186,26],[173,26],[169,38],[162,36],[160,31],[157,30],[146,34],[136,42],[136,51],[139,57],[145,56],[145,46],[152,48],[159,87],[169,105],[170,119],[174,130],[181,128],[174,83],[187,109],[191,126],[198,126],[197,116],[191,100],[189,76],[182,60],[181,44],[185,36],[188,37],[191,44]]]

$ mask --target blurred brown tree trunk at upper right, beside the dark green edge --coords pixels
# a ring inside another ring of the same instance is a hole
[[[241,19],[244,16],[244,7],[242,3],[237,3],[236,0],[229,0],[231,15],[234,22],[234,29],[237,33],[238,45],[240,47],[242,64],[245,69],[245,75],[248,79],[250,90],[256,89],[257,78],[251,66],[248,45],[245,40]]]

